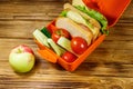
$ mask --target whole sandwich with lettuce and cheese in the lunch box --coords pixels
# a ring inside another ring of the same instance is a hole
[[[68,30],[72,37],[82,37],[91,44],[101,33],[108,34],[108,20],[81,2],[65,3],[64,10],[55,20],[55,27]]]

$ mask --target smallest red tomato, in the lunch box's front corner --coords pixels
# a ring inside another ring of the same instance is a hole
[[[76,56],[66,51],[62,55],[62,59],[65,60],[66,62],[73,62],[74,60],[76,60]]]

